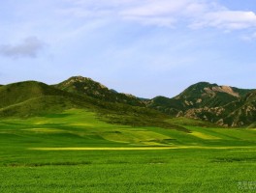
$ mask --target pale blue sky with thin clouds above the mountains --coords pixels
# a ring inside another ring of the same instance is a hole
[[[255,72],[255,0],[0,0],[0,84],[81,75],[152,98]]]

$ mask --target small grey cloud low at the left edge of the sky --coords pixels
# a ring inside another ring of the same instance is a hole
[[[36,37],[29,37],[18,44],[0,45],[0,55],[10,58],[36,58],[45,43]]]

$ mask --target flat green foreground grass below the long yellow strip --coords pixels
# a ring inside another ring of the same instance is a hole
[[[244,150],[30,156],[38,159],[0,168],[1,192],[239,192],[240,181],[255,181],[255,152]]]

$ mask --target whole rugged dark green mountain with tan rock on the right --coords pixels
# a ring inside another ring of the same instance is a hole
[[[147,102],[147,107],[175,117],[241,126],[256,121],[253,98],[253,90],[200,82],[173,98],[157,96]]]

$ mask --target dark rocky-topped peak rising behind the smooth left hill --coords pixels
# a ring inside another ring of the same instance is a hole
[[[144,102],[136,96],[119,94],[114,90],[108,89],[99,82],[95,82],[90,78],[82,76],[71,77],[64,82],[54,85],[54,87],[70,93],[91,96],[108,102],[144,106]]]

